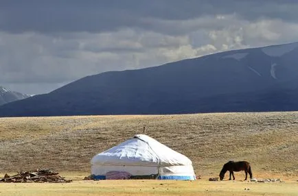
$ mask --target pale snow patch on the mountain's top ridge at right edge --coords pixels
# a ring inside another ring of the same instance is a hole
[[[298,42],[291,43],[288,45],[279,45],[279,46],[271,46],[271,47],[264,47],[262,51],[266,53],[266,55],[271,57],[281,57],[285,53],[293,51],[298,47]]]

